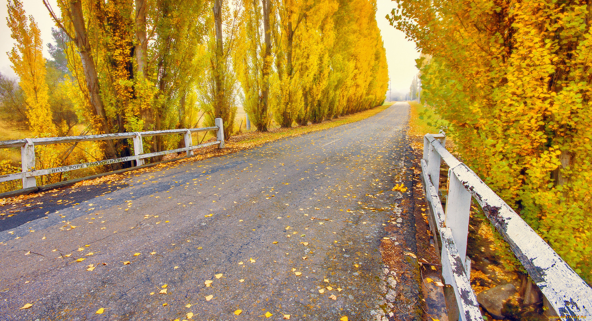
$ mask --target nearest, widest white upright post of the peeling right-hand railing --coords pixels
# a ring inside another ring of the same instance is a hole
[[[469,233],[469,212],[471,212],[471,193],[453,173],[448,170],[448,197],[446,198],[446,211],[444,223],[451,229],[452,238],[458,248],[458,255],[466,262],[466,237]],[[471,271],[466,271],[468,277]]]

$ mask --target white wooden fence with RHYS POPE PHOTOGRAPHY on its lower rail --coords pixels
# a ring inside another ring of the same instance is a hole
[[[193,145],[191,134],[202,131],[216,131],[217,141],[207,142],[205,144]],[[142,145],[142,137],[183,134],[185,140],[184,148],[177,148],[175,150],[157,151],[155,153],[144,154]],[[49,145],[49,144],[66,144],[69,142],[82,141],[104,141],[104,140],[120,140],[124,138],[133,138],[134,140],[134,155],[127,157],[120,157],[111,160],[93,161],[91,163],[83,163],[76,165],[68,165],[55,168],[35,168],[35,146]],[[116,134],[101,134],[101,135],[84,135],[84,136],[69,136],[69,137],[43,137],[43,138],[24,138],[22,140],[0,141],[0,148],[21,147],[21,163],[22,172],[15,174],[8,174],[0,176],[0,182],[22,179],[22,188],[37,186],[35,176],[46,174],[59,173],[62,171],[78,170],[80,168],[94,167],[105,164],[121,163],[122,161],[136,161],[136,166],[144,164],[144,158],[149,158],[157,155],[165,155],[171,153],[179,153],[186,151],[187,155],[193,155],[193,150],[200,147],[218,144],[218,148],[224,148],[224,125],[221,118],[215,119],[214,127],[205,128],[184,128],[184,129],[168,129],[165,131],[145,131],[145,132],[120,132]]]

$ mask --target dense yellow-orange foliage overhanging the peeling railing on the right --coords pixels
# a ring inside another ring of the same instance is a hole
[[[417,60],[422,99],[466,163],[592,280],[591,9],[542,0],[397,4],[387,18],[426,55]]]

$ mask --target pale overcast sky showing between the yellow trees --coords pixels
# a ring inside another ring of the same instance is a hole
[[[49,0],[49,2],[52,4],[54,10],[59,11],[55,0]],[[388,24],[388,20],[384,18],[385,15],[391,12],[394,3],[390,0],[377,0],[377,2],[378,11],[376,19],[382,33],[384,47],[387,50],[388,73],[391,78],[392,92],[406,93],[409,90],[413,76],[417,74],[415,59],[419,58],[419,52],[416,50],[413,41],[407,41],[405,35],[401,31],[395,30],[395,28]],[[5,3],[0,2],[2,4],[2,9],[0,9],[2,16],[2,21],[0,21],[0,37],[2,40],[0,41],[0,72],[11,77],[16,77],[6,54],[14,46],[14,41],[12,41],[10,30],[6,25],[8,13]],[[27,15],[33,15],[33,18],[39,25],[44,43],[53,41],[51,31],[54,23],[49,13],[47,13],[43,2],[41,0],[24,0],[23,5]],[[44,46],[43,55],[49,58],[47,46]]]

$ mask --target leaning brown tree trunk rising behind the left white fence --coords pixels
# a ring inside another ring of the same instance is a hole
[[[88,89],[89,102],[92,105],[92,111],[94,112],[96,122],[98,122],[99,129],[104,134],[110,134],[111,130],[109,128],[107,116],[105,115],[105,106],[101,99],[99,77],[96,73],[95,61],[92,60],[91,56],[91,44],[89,43],[88,35],[86,34],[81,0],[70,1],[70,11],[72,14],[72,25],[76,34],[75,43],[80,51],[82,69],[86,80],[86,87]],[[103,152],[107,158],[117,158],[117,151],[115,150],[115,145],[112,140],[105,141]],[[114,169],[120,167],[120,163],[112,165],[112,168]]]

